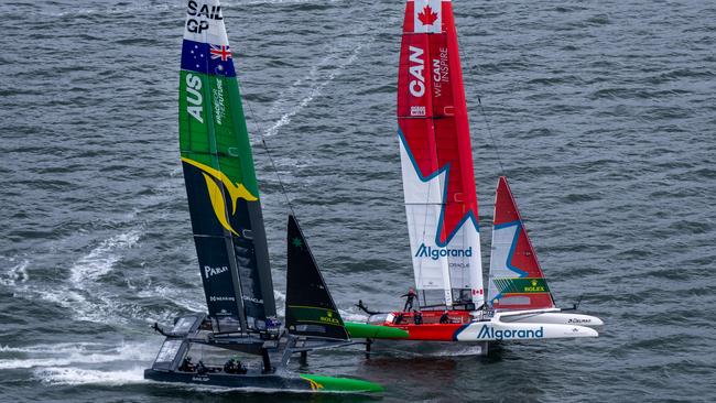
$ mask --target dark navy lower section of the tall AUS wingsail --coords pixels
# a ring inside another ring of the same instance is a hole
[[[273,285],[260,205],[239,198],[232,214],[219,211],[223,218],[228,216],[223,224],[213,200],[223,200],[229,190],[199,166],[185,162],[183,167],[209,316],[245,318],[248,329],[265,329],[275,305],[273,295],[263,293],[272,293]],[[211,196],[211,188],[224,196]]]

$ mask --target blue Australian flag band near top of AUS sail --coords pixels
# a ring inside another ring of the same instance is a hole
[[[236,77],[229,45],[184,40],[182,46],[182,69],[216,76]]]

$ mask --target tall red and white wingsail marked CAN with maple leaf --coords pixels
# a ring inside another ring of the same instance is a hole
[[[448,0],[409,0],[398,126],[415,284],[446,305],[484,304],[467,106]],[[436,303],[422,301],[422,303]]]

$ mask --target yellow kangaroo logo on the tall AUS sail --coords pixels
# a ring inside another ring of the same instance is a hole
[[[221,227],[226,228],[227,231],[230,231],[237,237],[240,237],[239,232],[231,228],[231,225],[229,224],[229,220],[226,216],[228,209],[226,208],[224,192],[221,192],[221,188],[217,182],[221,183],[229,193],[229,197],[231,198],[231,215],[236,214],[237,200],[239,198],[242,198],[247,202],[256,202],[258,198],[253,196],[251,192],[249,192],[249,189],[243,186],[243,184],[238,182],[235,184],[231,182],[231,179],[221,171],[215,170],[208,165],[204,165],[199,162],[186,157],[182,157],[182,161],[202,170],[202,174],[204,175],[206,187],[209,193],[209,199],[211,200],[211,207],[214,207],[216,219],[219,220]]]

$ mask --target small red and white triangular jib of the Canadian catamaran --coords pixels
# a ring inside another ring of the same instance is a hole
[[[505,176],[495,198],[488,301],[496,309],[553,308],[554,299]]]

